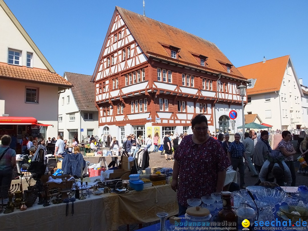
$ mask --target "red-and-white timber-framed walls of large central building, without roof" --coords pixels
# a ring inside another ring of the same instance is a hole
[[[115,10],[93,74],[99,126],[190,126],[199,113],[213,126],[215,103],[241,105],[237,86],[245,79],[179,63],[178,56],[144,53],[137,41]],[[166,54],[172,51],[180,48]]]

